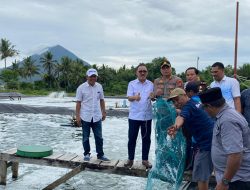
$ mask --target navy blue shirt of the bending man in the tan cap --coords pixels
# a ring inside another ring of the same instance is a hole
[[[182,108],[180,116],[184,125],[197,143],[201,151],[210,151],[213,136],[214,121],[200,107],[200,103],[190,99]]]

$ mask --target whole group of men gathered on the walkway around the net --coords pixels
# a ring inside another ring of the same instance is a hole
[[[241,114],[239,82],[225,76],[224,65],[220,62],[212,65],[214,82],[210,88],[200,81],[199,71],[194,67],[186,70],[187,82],[183,84],[181,78],[172,75],[167,59],[161,64],[161,77],[154,83],[147,80],[148,72],[146,64],[139,64],[136,67],[137,78],[128,84],[128,160],[124,166],[133,165],[141,129],[142,164],[146,168],[152,167],[148,161],[152,102],[161,97],[172,101],[177,110],[175,123],[168,128],[166,135],[174,138],[176,132],[183,129],[187,138],[186,165],[192,162],[189,154],[191,147],[195,147],[191,169],[198,189],[208,189],[212,171],[215,171],[217,190],[250,189],[250,127]],[[78,87],[76,93],[76,121],[82,126],[84,160],[90,160],[89,135],[92,128],[97,158],[109,161],[103,153],[101,121],[106,117],[103,89],[96,82],[98,73],[95,69],[89,69],[86,74],[87,81]],[[249,93],[245,94],[249,99]],[[244,103],[248,109],[249,100]],[[244,108],[243,113],[246,112]],[[249,116],[249,112],[245,115]]]

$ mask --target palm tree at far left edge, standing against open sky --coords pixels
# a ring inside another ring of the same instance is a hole
[[[0,55],[1,60],[4,59],[4,64],[6,68],[6,58],[18,55],[18,51],[15,49],[15,46],[9,42],[9,40],[2,38],[0,43]]]

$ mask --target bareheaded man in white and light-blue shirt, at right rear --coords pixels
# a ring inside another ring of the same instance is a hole
[[[211,73],[214,81],[210,84],[210,87],[220,87],[226,103],[241,113],[239,82],[235,78],[225,75],[224,65],[221,62],[216,62],[212,65]]]

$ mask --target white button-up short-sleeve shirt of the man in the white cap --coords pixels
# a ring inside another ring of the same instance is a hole
[[[83,121],[97,122],[102,118],[100,100],[104,99],[102,85],[95,83],[94,86],[85,82],[76,91],[76,101],[81,102],[80,117]]]

